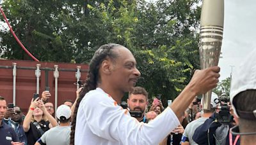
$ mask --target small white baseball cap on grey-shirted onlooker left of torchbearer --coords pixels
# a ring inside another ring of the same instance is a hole
[[[71,109],[67,105],[61,105],[56,111],[56,116],[59,120],[67,120],[71,116]]]

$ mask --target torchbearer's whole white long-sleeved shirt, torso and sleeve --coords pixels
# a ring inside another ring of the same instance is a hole
[[[79,104],[75,144],[158,144],[179,124],[170,107],[149,123],[140,123],[97,88]]]

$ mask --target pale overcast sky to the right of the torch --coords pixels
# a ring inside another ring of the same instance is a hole
[[[218,65],[221,67],[220,80],[234,73],[246,55],[256,48],[255,26],[255,0],[225,0],[222,58]]]

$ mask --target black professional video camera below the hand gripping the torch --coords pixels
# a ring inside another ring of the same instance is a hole
[[[228,106],[229,97],[226,93],[222,93],[219,99],[215,99],[216,104],[220,104],[216,109],[220,109],[219,113],[216,114],[216,119],[220,123],[228,124],[233,121],[233,116],[230,114],[230,106]]]

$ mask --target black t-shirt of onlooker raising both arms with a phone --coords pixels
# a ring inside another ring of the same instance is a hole
[[[35,142],[46,132],[49,130],[49,121],[41,120],[39,123],[34,121],[30,122],[30,128],[28,132],[26,132],[26,136],[28,138],[28,145],[34,145]]]

